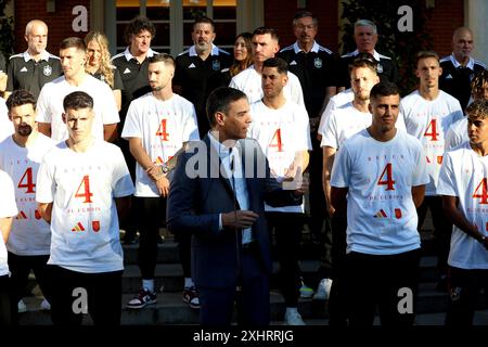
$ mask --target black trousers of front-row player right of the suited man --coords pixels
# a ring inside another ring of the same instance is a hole
[[[420,257],[420,248],[396,255],[349,253],[344,280],[350,325],[373,325],[376,307],[382,325],[413,325]]]

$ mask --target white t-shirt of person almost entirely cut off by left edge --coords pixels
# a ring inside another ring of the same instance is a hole
[[[15,217],[18,213],[15,205],[15,193],[12,179],[9,174],[0,170],[0,218]],[[9,264],[7,261],[7,247],[0,230],[0,275],[9,274]]]

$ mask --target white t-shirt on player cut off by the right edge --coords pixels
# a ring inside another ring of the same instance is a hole
[[[470,142],[446,152],[437,194],[457,196],[464,218],[488,236],[488,157],[478,156]],[[454,226],[448,264],[461,269],[488,269],[488,252]]]

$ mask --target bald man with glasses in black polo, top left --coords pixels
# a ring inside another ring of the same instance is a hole
[[[30,91],[37,100],[42,87],[63,75],[60,59],[46,50],[48,25],[33,20],[25,27],[27,51],[10,57],[4,98],[17,89]]]

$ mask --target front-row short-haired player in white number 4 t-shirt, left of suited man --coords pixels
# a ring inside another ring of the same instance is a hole
[[[51,318],[79,325],[85,311],[95,325],[118,325],[124,254],[117,215],[128,213],[133,184],[120,150],[92,134],[93,99],[75,91],[63,107],[68,139],[46,154],[36,193],[51,223],[48,264],[53,278],[63,279],[53,285]]]

